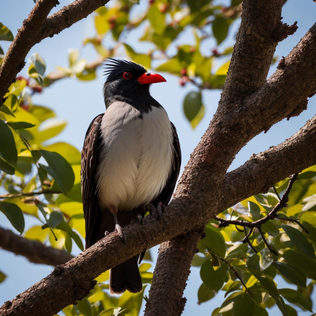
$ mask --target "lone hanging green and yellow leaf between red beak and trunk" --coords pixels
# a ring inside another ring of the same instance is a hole
[[[183,101],[183,110],[186,118],[194,128],[204,116],[205,107],[202,104],[201,92],[189,92]]]

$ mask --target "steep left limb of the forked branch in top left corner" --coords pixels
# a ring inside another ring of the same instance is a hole
[[[24,67],[27,53],[38,41],[42,24],[56,4],[56,0],[38,0],[27,19],[23,21],[1,64],[0,100],[14,82],[17,73]]]

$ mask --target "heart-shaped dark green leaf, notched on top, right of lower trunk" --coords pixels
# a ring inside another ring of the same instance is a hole
[[[222,288],[225,282],[227,276],[227,267],[222,265],[215,271],[211,261],[206,260],[201,266],[200,276],[203,283],[207,287],[217,292]]]

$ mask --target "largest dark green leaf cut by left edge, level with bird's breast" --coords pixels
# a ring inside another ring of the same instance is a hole
[[[18,153],[15,141],[9,126],[0,120],[0,154],[12,167],[16,167]]]

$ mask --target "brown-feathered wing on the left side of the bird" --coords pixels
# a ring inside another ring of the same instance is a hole
[[[92,246],[99,236],[96,222],[101,210],[96,194],[96,171],[99,163],[102,117],[103,114],[100,114],[90,123],[81,153],[81,190],[83,214],[86,221],[86,248]]]

